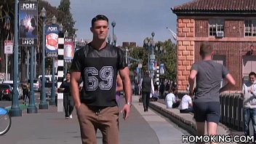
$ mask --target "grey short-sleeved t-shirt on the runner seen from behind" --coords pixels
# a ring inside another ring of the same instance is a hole
[[[228,74],[225,66],[212,60],[202,60],[194,63],[191,70],[197,71],[194,102],[220,102],[220,82]]]

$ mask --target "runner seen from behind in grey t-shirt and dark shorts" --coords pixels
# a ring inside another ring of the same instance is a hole
[[[189,91],[193,92],[196,80],[196,95],[193,100],[194,118],[198,135],[204,135],[204,123],[207,121],[207,134],[217,134],[220,120],[220,92],[230,89],[236,84],[224,65],[212,61],[214,55],[210,44],[201,44],[202,60],[194,63],[189,75]],[[227,84],[220,89],[220,81],[226,79]]]

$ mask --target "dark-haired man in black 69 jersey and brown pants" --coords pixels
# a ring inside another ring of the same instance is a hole
[[[122,108],[127,119],[132,103],[132,87],[124,52],[106,43],[108,17],[92,19],[92,41],[77,50],[71,65],[73,97],[83,144],[95,144],[96,131],[103,134],[103,144],[119,143],[119,108],[116,103],[116,76],[123,80],[126,103]],[[83,79],[83,95],[79,97],[79,79]]]

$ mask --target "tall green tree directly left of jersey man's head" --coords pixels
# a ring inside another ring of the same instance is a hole
[[[76,33],[76,29],[74,28],[76,21],[73,20],[70,6],[70,0],[60,1],[60,6],[58,7],[58,10],[61,12],[65,12],[65,14],[58,15],[57,20],[63,24],[63,30],[68,31],[69,36],[74,36],[74,34]]]

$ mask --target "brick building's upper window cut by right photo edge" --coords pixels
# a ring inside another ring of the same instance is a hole
[[[244,36],[256,36],[256,20],[244,20]]]

